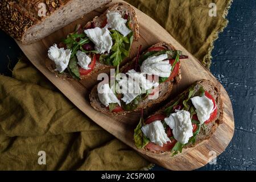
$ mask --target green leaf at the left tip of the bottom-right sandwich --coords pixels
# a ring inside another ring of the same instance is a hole
[[[142,133],[142,125],[144,125],[143,117],[141,117],[141,120],[139,121],[139,124],[137,125],[136,129],[134,130],[133,135],[135,146],[139,149],[144,148],[150,142],[150,140],[147,139]]]

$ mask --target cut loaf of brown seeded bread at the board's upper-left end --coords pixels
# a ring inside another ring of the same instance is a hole
[[[110,0],[1,0],[0,28],[23,44],[43,39]]]

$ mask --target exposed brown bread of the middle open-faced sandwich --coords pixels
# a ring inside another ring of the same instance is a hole
[[[169,50],[175,50],[175,48],[168,43],[165,42],[161,42],[161,43],[157,43],[152,47],[163,47]],[[122,72],[123,70],[125,70],[127,67],[129,67],[129,65],[134,64],[134,62],[136,61],[136,57],[134,57],[134,59],[132,61],[130,61],[129,63],[127,63],[126,65],[124,65],[121,69],[120,72]],[[174,86],[174,84],[178,84],[181,80],[181,69],[180,69],[180,65],[179,65],[179,72],[178,75],[176,77],[174,77],[171,81],[167,81],[167,82],[163,82],[162,84],[159,84],[159,97],[156,100],[149,100],[148,98],[146,98],[145,100],[141,101],[137,107],[137,109],[135,110],[131,110],[131,111],[121,111],[118,113],[112,113],[110,112],[110,110],[108,108],[106,108],[103,104],[101,104],[99,98],[98,98],[98,92],[97,92],[97,86],[94,86],[92,91],[90,92],[90,104],[94,107],[94,109],[101,111],[101,113],[104,114],[109,114],[109,115],[125,115],[127,113],[130,113],[132,111],[138,111],[141,109],[146,109],[148,107],[151,107],[154,104],[158,104],[164,100],[166,100],[166,98],[168,98],[171,94],[171,90],[172,87]]]

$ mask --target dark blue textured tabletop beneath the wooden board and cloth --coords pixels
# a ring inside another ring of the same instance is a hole
[[[235,0],[228,19],[228,27],[214,43],[210,71],[229,93],[236,129],[217,164],[198,170],[256,170],[256,1]],[[0,40],[0,73],[10,76],[8,68],[22,51],[2,31]]]

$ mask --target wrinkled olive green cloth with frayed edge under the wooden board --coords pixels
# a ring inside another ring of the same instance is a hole
[[[230,1],[128,1],[152,16],[205,65]],[[217,17],[208,16],[210,2]],[[45,158],[44,158],[45,157]],[[46,159],[46,160],[44,160]],[[0,170],[131,170],[151,164],[97,126],[28,60],[0,76]]]

